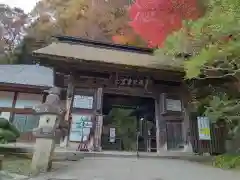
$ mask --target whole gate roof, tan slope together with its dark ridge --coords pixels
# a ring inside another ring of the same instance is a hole
[[[92,62],[140,67],[155,70],[182,71],[180,62],[166,56],[155,56],[153,50],[85,40],[57,37],[58,41],[33,52],[36,57],[46,57],[70,62]],[[55,58],[52,58],[55,57]]]

